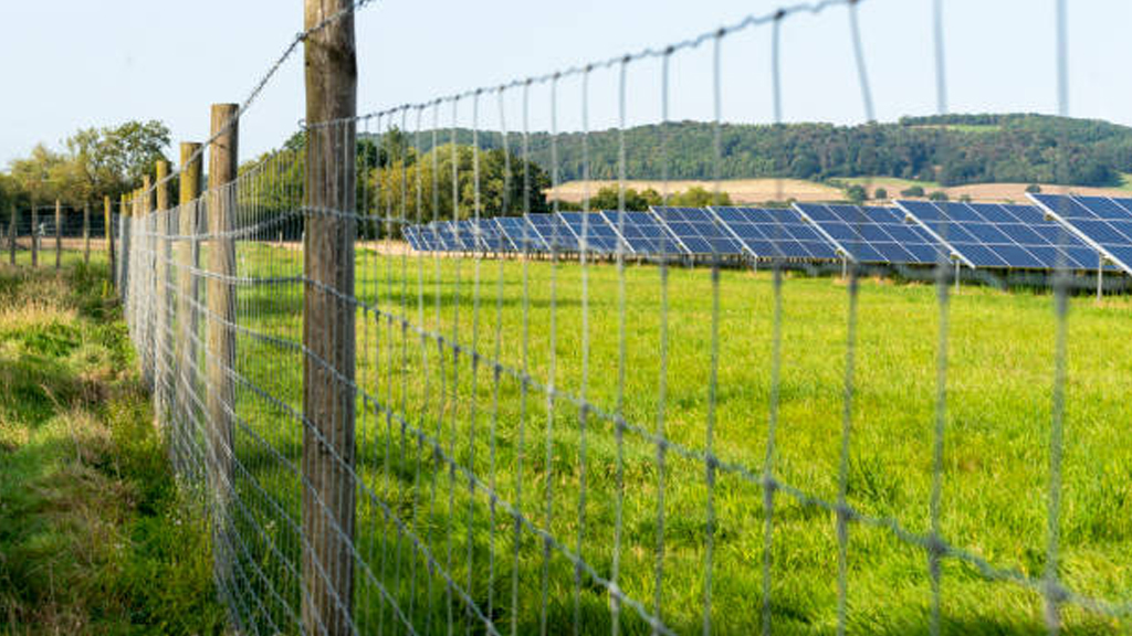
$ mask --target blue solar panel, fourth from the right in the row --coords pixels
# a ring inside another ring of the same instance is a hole
[[[723,226],[723,229],[730,232],[735,240],[738,241],[739,244],[755,258],[794,258],[799,260],[837,260],[840,258],[838,255],[838,244],[830,241],[830,238],[825,233],[821,232],[813,222],[798,214],[798,210],[792,207],[772,208],[757,206],[710,206],[707,209],[715,215],[715,218]],[[737,215],[746,214],[747,217],[728,220],[724,218],[723,213],[735,213]],[[761,221],[756,218],[758,215],[763,215],[770,221]],[[779,218],[779,216],[788,216],[789,218],[782,220]],[[746,237],[746,232],[740,232],[734,226],[735,223],[743,223],[758,229],[762,233],[762,238]],[[772,227],[773,234],[763,227]],[[803,229],[813,233],[813,237],[798,237],[796,233]],[[767,243],[767,253],[761,253],[760,250],[756,249],[754,241],[757,241],[758,243]],[[809,242],[820,243],[823,248],[829,250],[830,256],[818,256],[814,253],[806,246],[806,243]],[[779,243],[796,243],[800,250],[796,253],[787,253],[787,250],[779,248],[779,253],[769,253]]]

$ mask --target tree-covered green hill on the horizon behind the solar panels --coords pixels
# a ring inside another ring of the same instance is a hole
[[[470,144],[472,132],[457,129],[457,140]],[[644,126],[625,132],[626,177],[664,175],[667,132],[668,177],[711,179],[715,175],[713,126],[683,121]],[[418,137],[422,149],[431,132]],[[1132,172],[1132,128],[1098,120],[1038,114],[968,114],[903,118],[897,123],[842,127],[827,123],[781,126],[722,124],[719,177],[748,179],[791,177],[823,180],[837,177],[898,177],[937,181],[943,186],[986,182],[1110,186],[1122,172]],[[501,146],[499,134],[480,132],[482,147]],[[452,140],[440,130],[438,144]],[[521,137],[511,134],[513,152]],[[590,178],[616,179],[618,132],[591,132]],[[582,135],[558,136],[559,180],[583,178]],[[532,134],[532,158],[550,169],[550,135]]]

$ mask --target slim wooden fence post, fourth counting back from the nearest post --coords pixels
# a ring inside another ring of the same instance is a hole
[[[169,162],[157,162],[157,209],[154,212],[154,307],[157,312],[154,320],[154,401],[158,423],[164,423],[169,409],[169,356],[173,353],[173,335],[170,333],[169,315]]]

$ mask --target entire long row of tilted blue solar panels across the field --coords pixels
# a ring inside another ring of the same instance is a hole
[[[900,200],[898,207],[668,207],[438,221],[404,229],[418,251],[754,258],[1132,274],[1132,199],[1038,195],[1038,206]]]

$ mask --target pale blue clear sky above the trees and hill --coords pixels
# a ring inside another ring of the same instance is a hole
[[[787,3],[794,0],[786,0]],[[498,85],[766,14],[779,0],[378,0],[358,16],[359,111]],[[174,141],[207,137],[208,105],[242,101],[301,29],[301,0],[55,0],[0,2],[0,164],[80,127],[161,119]],[[1054,0],[945,0],[953,112],[1056,110]],[[935,112],[932,0],[863,0],[860,28],[877,119]],[[782,31],[789,121],[864,118],[847,11],[798,15]],[[1132,124],[1132,2],[1070,0],[1070,113]],[[769,27],[724,40],[724,120],[772,120]],[[627,78],[629,123],[660,119],[660,65]],[[671,67],[672,119],[711,119],[711,46]],[[518,126],[518,92],[506,102]],[[617,122],[617,74],[594,74],[590,127]],[[577,129],[581,84],[558,93],[559,129]],[[481,106],[497,126],[498,105]],[[241,122],[243,158],[276,146],[303,113],[301,52]],[[550,124],[550,96],[531,95],[531,127]],[[470,102],[460,123],[471,124]],[[428,115],[426,123],[430,121]],[[440,122],[452,122],[451,108]],[[414,127],[410,121],[410,129]]]

